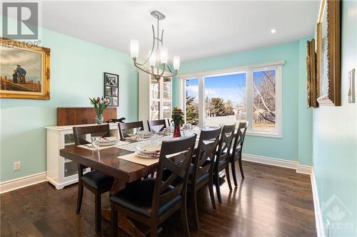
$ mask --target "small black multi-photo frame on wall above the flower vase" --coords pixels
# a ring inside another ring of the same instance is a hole
[[[119,106],[119,75],[104,73],[104,97],[109,99],[109,106]]]

